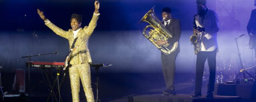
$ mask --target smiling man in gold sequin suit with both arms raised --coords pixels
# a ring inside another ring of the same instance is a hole
[[[70,64],[72,66],[69,68],[73,102],[79,102],[80,78],[82,81],[87,102],[94,102],[90,74],[90,63],[92,62],[92,59],[90,57],[90,52],[88,49],[88,40],[97,25],[97,20],[100,15],[98,13],[100,3],[98,1],[95,1],[94,6],[95,10],[89,26],[85,26],[84,28],[82,28],[82,16],[78,14],[72,14],[72,17],[70,19],[70,26],[72,27],[72,29],[69,29],[68,31],[64,31],[61,28],[52,24],[50,20],[46,19],[43,12],[37,10],[40,18],[44,20],[46,26],[52,29],[52,31],[54,31],[57,35],[68,39],[70,48],[72,46],[72,43],[74,42],[74,39],[77,38],[76,43],[74,44],[72,59],[70,59]]]

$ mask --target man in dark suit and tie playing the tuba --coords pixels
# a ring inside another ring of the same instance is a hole
[[[169,38],[166,41],[158,40],[155,43],[157,45],[165,45],[169,43],[170,45],[168,48],[172,48],[173,43],[176,41],[179,41],[180,39],[180,20],[175,19],[172,17],[171,14],[172,10],[171,8],[165,7],[162,9],[162,23],[165,25],[165,27],[172,33],[172,37]],[[178,53],[180,52],[180,45],[178,45],[178,48],[173,53],[170,53],[168,55],[164,54],[161,51],[161,60],[162,60],[162,70],[164,73],[164,80],[166,83],[167,90],[164,90],[162,92],[162,95],[175,95],[175,89],[174,89],[174,75],[175,75],[175,61]]]

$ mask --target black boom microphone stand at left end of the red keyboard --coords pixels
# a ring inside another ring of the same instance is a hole
[[[29,62],[28,63],[28,102],[30,102],[30,59],[31,59],[31,57],[35,57],[35,56],[50,55],[50,54],[58,54],[58,52],[38,54],[38,55],[29,55],[29,56],[21,57],[21,58],[28,58],[28,62]]]

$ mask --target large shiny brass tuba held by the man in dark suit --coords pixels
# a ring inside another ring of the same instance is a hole
[[[154,6],[155,7],[155,6]],[[157,40],[166,41],[168,38],[172,37],[172,33],[166,29],[164,24],[156,17],[156,14],[154,13],[154,7],[151,8],[145,16],[140,20],[140,22],[148,22],[150,25],[146,26],[143,30],[143,35],[151,42],[153,43],[160,51],[162,51],[164,54],[168,55],[170,53],[173,53],[177,47],[178,47],[178,41],[173,43],[173,46],[171,49],[168,49],[169,43],[165,45],[156,45]],[[152,27],[154,29],[150,29],[148,34],[146,34],[146,29],[149,27]]]

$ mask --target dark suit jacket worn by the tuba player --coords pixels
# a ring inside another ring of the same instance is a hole
[[[164,24],[164,22],[162,23]],[[173,43],[175,43],[176,41],[179,41],[180,39],[180,34],[181,34],[180,20],[172,18],[172,22],[170,22],[168,26],[166,26],[166,28],[170,31],[170,33],[172,33],[172,38],[168,39],[168,43],[170,44],[168,48],[171,49],[173,46]],[[180,43],[178,44],[178,48],[176,49],[176,51],[180,52]]]

